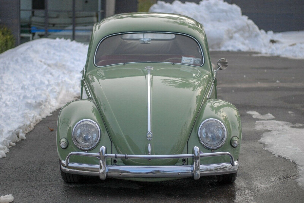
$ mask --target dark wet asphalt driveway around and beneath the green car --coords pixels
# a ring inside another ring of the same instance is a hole
[[[14,202],[304,202],[304,190],[295,181],[296,164],[264,151],[258,143],[263,132],[254,130],[257,119],[246,113],[255,110],[271,113],[275,120],[304,123],[304,60],[252,54],[211,52],[213,63],[219,58],[229,63],[218,73],[218,97],[233,103],[242,120],[234,184],[217,184],[214,177],[147,184],[92,178],[67,184],[60,176],[56,132],[48,130],[56,129],[57,110],[0,159],[0,194],[12,194]]]

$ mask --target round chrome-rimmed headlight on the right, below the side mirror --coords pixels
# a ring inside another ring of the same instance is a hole
[[[218,149],[226,140],[224,124],[217,119],[207,119],[199,126],[199,140],[208,149]]]

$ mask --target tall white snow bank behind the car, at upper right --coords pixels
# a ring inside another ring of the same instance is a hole
[[[172,4],[157,1],[150,12],[166,12],[187,15],[202,23],[210,50],[251,51],[269,56],[284,56],[304,59],[304,42],[297,40],[304,33],[279,35],[260,30],[247,16],[242,15],[239,6],[223,0],[204,0]],[[284,40],[289,36],[289,40]],[[277,41],[271,43],[270,40]]]

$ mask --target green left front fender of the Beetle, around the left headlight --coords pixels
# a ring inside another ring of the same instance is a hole
[[[102,117],[98,108],[90,99],[75,100],[67,103],[60,110],[57,123],[57,152],[60,160],[65,160],[67,155],[73,151],[84,152],[76,147],[72,140],[72,131],[75,124],[83,119],[90,119],[98,123],[101,137],[95,148],[89,150],[90,153],[98,153],[101,146],[106,146],[107,151],[111,153],[111,140],[103,123]],[[61,138],[68,140],[68,147],[62,149],[59,145]],[[98,164],[99,160],[96,157],[71,156],[71,162],[83,164]],[[108,159],[111,162],[111,159]],[[108,163],[109,164],[109,163]]]

